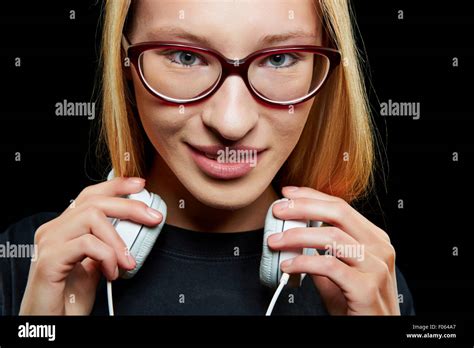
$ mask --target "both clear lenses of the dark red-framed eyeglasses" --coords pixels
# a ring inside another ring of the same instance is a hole
[[[144,51],[139,65],[155,93],[183,101],[210,93],[222,74],[222,66],[213,55],[168,47]],[[253,60],[248,80],[263,99],[296,102],[320,87],[329,65],[326,56],[314,52],[271,52]]]

